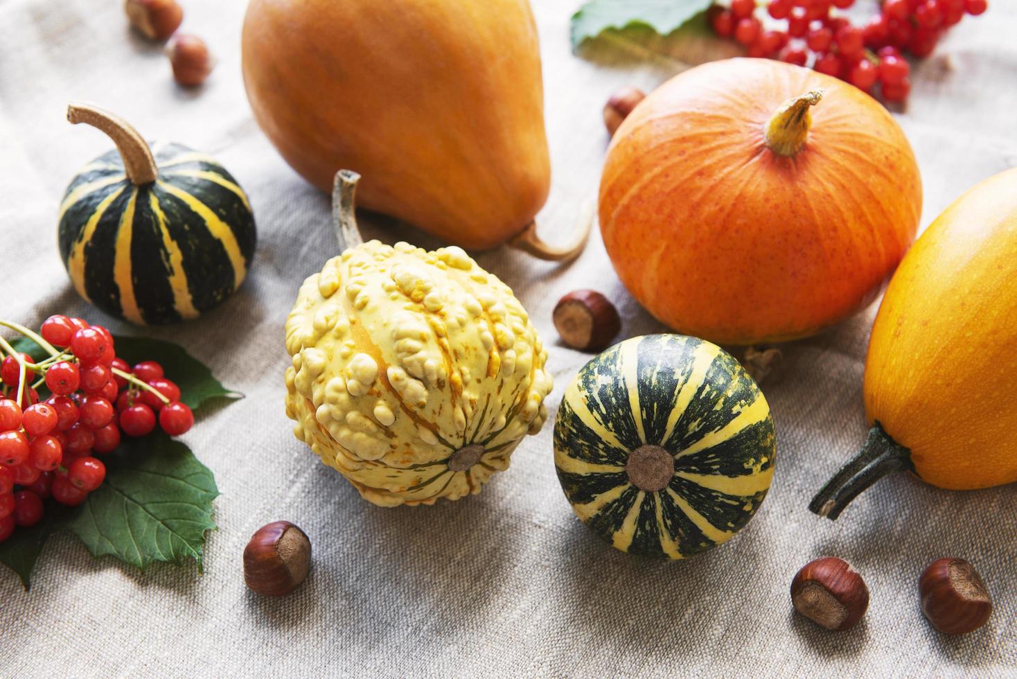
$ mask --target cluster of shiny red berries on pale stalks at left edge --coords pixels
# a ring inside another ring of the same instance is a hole
[[[163,431],[178,436],[194,424],[162,366],[145,361],[131,368],[117,358],[106,328],[56,315],[35,336],[53,350],[38,364],[3,343],[8,353],[0,362],[0,542],[15,526],[38,523],[45,499],[83,502],[106,478],[96,455],[116,449],[121,433],[144,436],[158,419]],[[52,395],[40,400],[35,387],[43,385]]]

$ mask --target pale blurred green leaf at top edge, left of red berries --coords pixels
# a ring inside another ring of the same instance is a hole
[[[705,12],[712,0],[590,0],[572,17],[573,49],[608,28],[649,26],[661,36]]]

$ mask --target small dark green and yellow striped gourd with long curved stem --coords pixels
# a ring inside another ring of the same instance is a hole
[[[123,120],[71,105],[117,148],[86,165],[60,206],[59,246],[78,294],[139,324],[196,318],[236,290],[254,256],[244,191],[214,159],[148,144]]]

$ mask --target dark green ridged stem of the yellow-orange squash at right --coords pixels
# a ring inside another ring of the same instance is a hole
[[[869,430],[861,450],[823,486],[809,503],[809,509],[835,519],[858,493],[888,474],[902,470],[914,471],[911,451],[894,441],[877,422]]]

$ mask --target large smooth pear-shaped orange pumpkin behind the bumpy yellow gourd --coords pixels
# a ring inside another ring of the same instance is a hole
[[[550,165],[527,0],[251,0],[243,74],[258,124],[321,190],[350,168],[363,207],[469,248],[526,231],[520,247],[559,258],[533,245]]]

